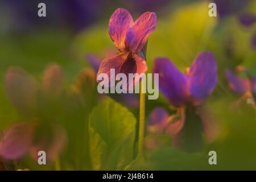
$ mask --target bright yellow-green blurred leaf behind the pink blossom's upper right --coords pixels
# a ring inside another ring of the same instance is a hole
[[[167,56],[178,67],[189,67],[193,59],[206,49],[217,18],[208,15],[208,2],[197,2],[176,9],[170,18],[158,20],[150,35],[147,64],[151,71],[155,57]]]

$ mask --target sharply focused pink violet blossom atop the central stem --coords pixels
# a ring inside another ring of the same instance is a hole
[[[109,35],[119,53],[102,61],[97,76],[106,73],[110,79],[115,77],[110,75],[110,69],[115,69],[115,74],[125,73],[127,77],[129,73],[139,75],[145,73],[147,64],[142,49],[146,45],[148,35],[154,32],[155,27],[155,13],[143,13],[134,22],[127,10],[115,10],[109,20]],[[138,79],[134,80],[134,83],[136,84],[137,81]]]

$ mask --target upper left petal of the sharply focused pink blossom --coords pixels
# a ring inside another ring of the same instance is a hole
[[[125,9],[117,9],[109,19],[109,35],[119,51],[125,51],[125,35],[133,25],[133,17]]]

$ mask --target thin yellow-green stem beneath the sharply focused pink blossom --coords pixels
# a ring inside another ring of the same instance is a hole
[[[145,115],[145,94],[142,93],[142,81],[139,82],[139,141],[138,141],[138,156],[143,154],[144,147],[144,115]]]

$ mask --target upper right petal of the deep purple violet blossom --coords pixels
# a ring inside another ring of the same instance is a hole
[[[215,88],[217,76],[216,60],[211,52],[202,52],[197,55],[188,73],[189,94],[193,105],[204,102]]]

